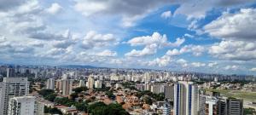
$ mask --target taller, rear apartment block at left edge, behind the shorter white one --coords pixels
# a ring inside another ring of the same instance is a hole
[[[0,115],[7,115],[9,99],[29,93],[27,78],[3,78],[0,84]]]

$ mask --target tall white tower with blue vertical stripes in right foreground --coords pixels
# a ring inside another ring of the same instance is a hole
[[[198,114],[198,89],[193,82],[180,81],[174,85],[174,115]]]

